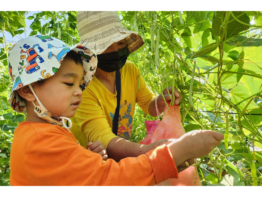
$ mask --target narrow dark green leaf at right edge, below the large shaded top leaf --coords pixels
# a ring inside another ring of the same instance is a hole
[[[230,46],[261,46],[262,39],[261,38],[248,38],[242,35],[238,35],[232,38],[227,43]]]

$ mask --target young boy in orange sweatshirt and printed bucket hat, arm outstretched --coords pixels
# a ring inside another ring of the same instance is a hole
[[[9,103],[15,111],[27,113],[14,132],[11,185],[154,185],[177,178],[188,167],[185,160],[192,165],[193,158],[221,143],[221,133],[192,131],[137,158],[103,161],[105,152],[85,149],[68,130],[82,87],[94,75],[95,55],[80,45],[68,47],[56,38],[39,38],[23,38],[9,50],[13,80]]]

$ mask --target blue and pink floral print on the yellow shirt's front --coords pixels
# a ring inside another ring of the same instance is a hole
[[[130,112],[132,110],[132,103],[127,103],[127,100],[125,100],[125,104],[119,106],[119,118],[118,118],[118,129],[117,129],[117,136],[122,137],[126,140],[130,139],[131,131],[132,131],[132,121],[133,118],[130,115]],[[123,108],[123,110],[121,110]],[[122,116],[121,116],[122,114]],[[110,112],[110,117],[112,118],[112,125],[114,120],[114,114]]]

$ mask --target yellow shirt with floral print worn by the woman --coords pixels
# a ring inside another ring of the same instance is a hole
[[[121,75],[121,100],[117,136],[129,140],[131,136],[135,103],[147,114],[151,101],[156,97],[146,85],[139,69],[126,61]],[[139,82],[140,81],[140,82]],[[139,85],[139,88],[138,88]],[[72,120],[70,131],[78,142],[86,147],[88,142],[101,141],[105,147],[116,137],[112,133],[113,117],[116,110],[116,94],[112,94],[94,76],[83,91],[82,102]]]

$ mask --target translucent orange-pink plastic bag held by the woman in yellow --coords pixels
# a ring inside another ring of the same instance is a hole
[[[161,121],[145,121],[148,134],[139,142],[140,144],[151,144],[160,139],[178,139],[183,134],[185,134],[185,129],[181,125],[179,105],[169,106],[169,109],[170,111],[167,107],[165,107]],[[152,127],[150,127],[150,125]],[[200,182],[196,167],[189,166],[187,169],[178,173],[178,179],[168,179],[159,183],[158,185],[201,186],[202,184]]]

